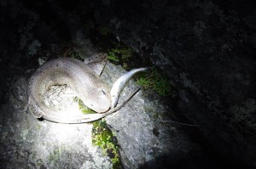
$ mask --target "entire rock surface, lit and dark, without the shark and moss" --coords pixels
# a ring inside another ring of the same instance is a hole
[[[106,119],[125,168],[255,168],[253,5],[82,2],[0,3],[0,168],[112,167],[91,146],[90,124],[35,121],[23,111],[31,76],[26,70],[38,66],[37,56],[96,54],[104,49],[104,35],[109,44],[125,42],[149,58],[177,87],[174,101],[143,91]],[[106,68],[102,78],[111,85],[123,69]],[[123,94],[135,84],[128,86]]]

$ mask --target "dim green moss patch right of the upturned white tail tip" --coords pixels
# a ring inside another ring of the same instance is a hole
[[[148,72],[139,75],[137,83],[144,89],[152,89],[160,96],[168,96],[171,94],[171,85],[165,76],[162,76],[153,66]]]

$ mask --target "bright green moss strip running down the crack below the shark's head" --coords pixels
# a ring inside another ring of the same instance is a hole
[[[113,169],[121,168],[119,146],[113,132],[108,128],[106,121],[93,122],[92,144],[101,147],[103,154],[110,157],[113,163]]]

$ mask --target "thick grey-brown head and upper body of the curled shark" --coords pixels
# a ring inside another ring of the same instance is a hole
[[[42,96],[53,85],[67,85],[83,100],[84,104],[98,113],[110,108],[109,87],[78,59],[53,59],[42,65],[31,77],[27,93],[33,114],[40,118],[52,115]]]

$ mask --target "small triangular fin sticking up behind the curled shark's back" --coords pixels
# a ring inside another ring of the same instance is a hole
[[[102,74],[102,70],[107,63],[107,54],[96,54],[90,58],[84,59],[84,64],[88,65],[91,70],[93,70],[97,76]]]

